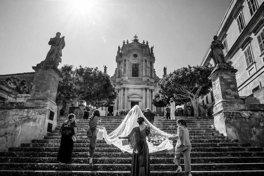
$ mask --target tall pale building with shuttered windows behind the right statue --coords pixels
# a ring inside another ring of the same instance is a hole
[[[216,31],[224,45],[226,62],[235,69],[238,93],[248,97],[264,86],[264,1],[231,0]],[[213,36],[212,36],[213,39]],[[210,47],[201,65],[211,63]],[[261,95],[250,103],[264,103]],[[199,97],[204,104],[214,104],[213,92]]]

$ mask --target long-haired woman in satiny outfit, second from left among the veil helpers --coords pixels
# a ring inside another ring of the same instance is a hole
[[[96,140],[97,140],[97,128],[102,129],[103,127],[99,126],[98,123],[101,120],[100,111],[95,109],[92,116],[89,120],[89,128],[87,129],[87,136],[89,139],[89,164],[93,164],[93,157],[95,153]]]

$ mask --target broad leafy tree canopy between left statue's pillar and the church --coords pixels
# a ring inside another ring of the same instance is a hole
[[[109,75],[98,70],[98,67],[74,68],[73,65],[64,65],[60,71],[63,77],[59,82],[58,94],[71,99],[73,104],[79,100],[86,101],[87,106],[93,101],[105,101],[112,104],[113,99],[117,97],[117,91]]]

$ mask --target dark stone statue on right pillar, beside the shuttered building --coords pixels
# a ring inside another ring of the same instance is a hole
[[[226,63],[223,49],[223,43],[221,42],[221,40],[218,40],[217,35],[215,35],[214,41],[212,41],[211,43],[211,52],[209,55],[214,60],[214,65]]]

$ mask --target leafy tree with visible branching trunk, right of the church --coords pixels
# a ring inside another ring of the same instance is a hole
[[[194,116],[199,116],[196,97],[210,92],[212,82],[208,79],[213,67],[190,66],[174,70],[158,82],[158,94],[161,100],[173,95],[178,99],[189,99],[194,108]],[[187,100],[186,100],[187,101]]]

